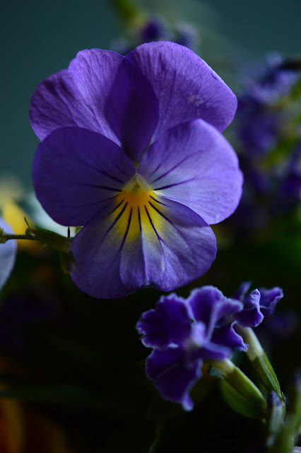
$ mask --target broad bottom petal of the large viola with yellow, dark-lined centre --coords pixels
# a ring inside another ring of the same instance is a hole
[[[111,298],[148,286],[171,291],[203,275],[216,256],[213,231],[187,207],[165,201],[139,208],[118,198],[88,222],[71,248],[76,285]]]

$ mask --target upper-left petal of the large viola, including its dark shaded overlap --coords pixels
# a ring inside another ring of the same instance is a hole
[[[139,160],[158,122],[158,101],[128,59],[110,50],[82,50],[68,69],[37,86],[30,122],[40,139],[66,126],[100,132]]]

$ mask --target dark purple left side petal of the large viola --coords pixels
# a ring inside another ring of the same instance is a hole
[[[110,139],[80,127],[63,127],[37,148],[33,184],[52,219],[81,226],[102,212],[134,173],[134,164]]]

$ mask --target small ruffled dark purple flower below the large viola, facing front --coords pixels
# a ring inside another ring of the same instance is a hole
[[[227,336],[218,333],[220,322],[242,307],[241,302],[206,286],[194,289],[186,300],[177,294],[163,296],[154,310],[142,314],[136,328],[142,343],[153,348],[146,360],[146,375],[163,398],[191,411],[189,391],[201,377],[203,360],[223,360],[243,343],[232,329]]]

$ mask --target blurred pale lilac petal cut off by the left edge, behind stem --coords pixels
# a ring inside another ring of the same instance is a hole
[[[4,219],[0,217],[0,229],[6,233],[13,233],[11,226],[9,226]],[[0,289],[4,286],[16,260],[17,243],[14,240],[9,240],[6,243],[0,243]]]

